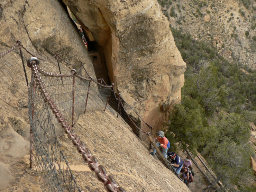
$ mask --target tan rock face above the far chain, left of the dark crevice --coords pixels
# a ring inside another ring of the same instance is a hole
[[[82,61],[88,73],[95,78],[88,51],[59,1],[2,1],[1,7],[1,50],[8,50],[16,40],[21,40],[39,57],[40,54],[52,57],[57,52],[69,63],[79,64]],[[78,66],[70,66],[73,67]],[[58,70],[56,72],[59,73]]]

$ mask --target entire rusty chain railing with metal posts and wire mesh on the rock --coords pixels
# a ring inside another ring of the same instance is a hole
[[[138,113],[114,91],[114,85],[107,85],[103,79],[94,80],[80,62],[88,77],[82,77],[75,70],[71,74],[62,75],[60,61],[70,64],[57,53],[51,58],[36,57],[20,41],[17,41],[9,51],[0,55],[0,58],[19,46],[22,64],[27,80],[24,58],[21,48],[33,56],[28,60],[32,75],[29,88],[29,120],[30,120],[30,167],[35,166],[43,191],[81,191],[76,183],[68,162],[61,150],[58,136],[60,127],[64,128],[68,138],[78,152],[82,154],[90,169],[104,184],[107,191],[125,191],[116,184],[115,179],[106,173],[106,169],[99,165],[97,158],[92,156],[79,136],[73,129],[75,122],[82,113],[94,110],[106,110],[107,106],[117,112],[132,128],[132,131],[145,142],[148,142],[145,133],[152,130]],[[39,60],[47,62],[56,57],[60,74],[48,73],[39,66]],[[59,60],[60,59],[60,60]],[[99,81],[101,83],[99,83]],[[110,109],[109,108],[109,109]]]

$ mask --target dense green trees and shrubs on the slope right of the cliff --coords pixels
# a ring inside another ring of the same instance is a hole
[[[256,71],[229,63],[216,49],[171,30],[187,70],[182,103],[173,108],[166,137],[183,149],[189,144],[193,154],[200,152],[227,189],[237,185],[253,191],[246,179],[252,176],[248,122],[256,123]]]

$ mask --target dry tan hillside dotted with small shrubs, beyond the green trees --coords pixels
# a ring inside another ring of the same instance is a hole
[[[229,62],[256,68],[254,0],[158,2],[172,27],[190,33],[194,39],[207,42]]]

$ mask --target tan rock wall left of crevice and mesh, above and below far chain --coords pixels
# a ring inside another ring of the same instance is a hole
[[[1,0],[0,54],[15,45],[16,40],[21,40],[22,45],[41,58],[52,57],[57,52],[70,63],[82,61],[95,78],[88,51],[64,8],[57,0]],[[24,49],[22,52],[26,63],[31,56]],[[56,59],[42,61],[40,67],[47,72],[59,73]],[[63,74],[69,74],[72,68],[61,63]],[[31,72],[27,66],[26,71],[30,82]],[[0,58],[0,74],[0,162],[4,163],[0,166],[6,167],[0,168],[5,173],[0,173],[0,190],[3,190],[24,177],[24,168],[10,173],[5,171],[7,167],[17,165],[29,153],[28,88],[18,47]],[[3,177],[6,181],[2,181]],[[27,182],[31,184],[35,179]]]

